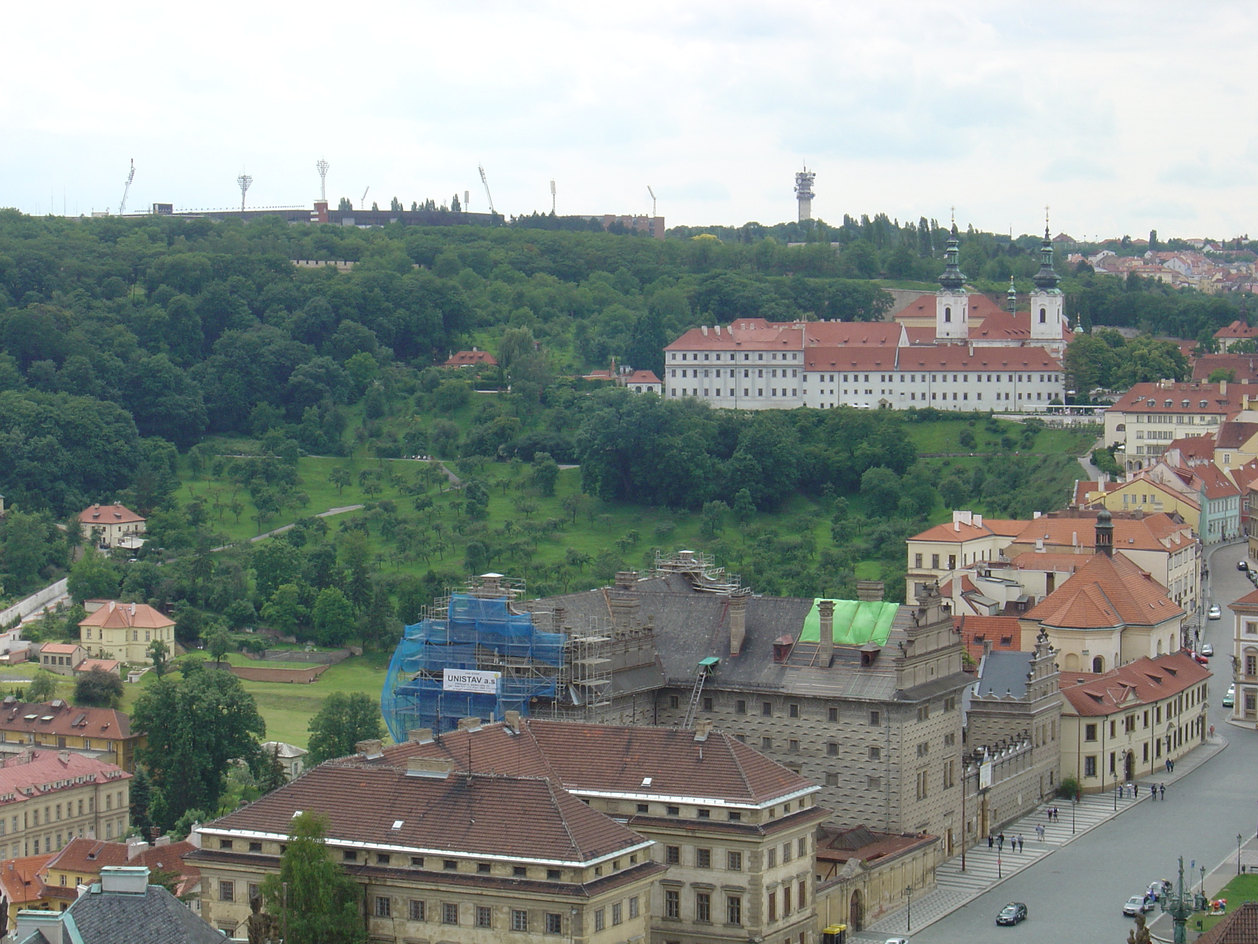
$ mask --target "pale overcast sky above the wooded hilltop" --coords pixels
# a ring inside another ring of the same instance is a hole
[[[1258,235],[1254,3],[10,4],[0,206],[920,215]]]

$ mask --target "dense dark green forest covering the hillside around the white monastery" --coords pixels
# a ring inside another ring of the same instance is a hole
[[[470,463],[473,482],[492,478],[486,463],[580,463],[581,488],[606,507],[708,509],[713,521],[772,514],[793,495],[823,501],[837,521],[845,520],[842,501],[853,498],[871,520],[898,522],[897,534],[940,500],[1039,510],[1050,495],[1009,485],[1034,478],[1011,456],[1030,442],[998,427],[994,439],[1010,441],[996,447],[1010,456],[1005,481],[959,471],[941,498],[945,482],[922,483],[913,472],[922,467],[903,435],[911,418],[740,415],[600,391],[579,379],[611,359],[659,370],[660,349],[698,323],[879,318],[891,298],[877,279],[926,284],[946,239],[933,222],[881,215],[834,228],[678,228],[658,240],[570,232],[540,215],[497,228],[356,229],[0,211],[0,493],[14,509],[0,526],[4,595],[65,566],[74,529],[60,531],[62,540],[55,525],[96,501],[150,515],[161,539],[155,548],[204,560],[215,522],[209,509],[177,497],[181,477],[230,482],[231,497],[214,511],[237,521],[247,514],[262,530],[309,503],[303,456],[431,454]],[[1030,288],[1035,237],[971,230],[960,240],[962,268],[979,288],[1003,293],[1010,276],[1020,291]],[[355,266],[338,272],[294,259]],[[1229,298],[1098,276],[1086,264],[1059,261],[1059,271],[1067,311],[1084,326],[1196,337],[1239,312]],[[1174,361],[1165,346],[1141,347],[1142,339],[1098,332],[1094,340],[1081,346],[1093,355],[1079,368],[1093,371],[1089,383],[1164,376],[1166,359]],[[434,366],[473,345],[492,350],[499,365],[470,374]],[[370,498],[371,475],[356,481]],[[528,477],[528,487],[540,481]],[[467,505],[457,519],[467,517]],[[845,527],[835,524],[834,535],[845,535],[837,542],[857,546],[868,536],[864,525]],[[492,559],[511,541],[477,544]],[[224,563],[225,583],[213,592],[195,570],[171,583],[174,571],[159,579],[116,564],[106,583],[116,580],[120,592],[130,580],[133,595],[219,613],[240,582],[255,580],[244,560]],[[360,587],[351,600],[356,610],[370,605],[365,594]],[[267,602],[254,594],[252,608]]]

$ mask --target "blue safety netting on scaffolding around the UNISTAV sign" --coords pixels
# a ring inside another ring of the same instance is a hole
[[[408,626],[394,651],[380,694],[389,734],[404,741],[414,728],[449,731],[460,717],[528,715],[533,699],[555,697],[564,639],[562,633],[536,629],[532,614],[509,612],[506,597],[453,594],[447,619]],[[503,660],[525,665],[513,672]],[[530,665],[542,671],[528,671]],[[443,691],[443,668],[502,671],[502,683],[497,695]]]

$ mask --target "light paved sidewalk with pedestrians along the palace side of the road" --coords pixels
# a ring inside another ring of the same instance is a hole
[[[991,891],[991,889],[1000,885],[1005,879],[1025,868],[1030,868],[1035,862],[1045,856],[1050,856],[1062,846],[1073,842],[1101,823],[1113,819],[1128,807],[1136,803],[1151,802],[1149,798],[1150,784],[1166,784],[1167,789],[1172,789],[1172,784],[1176,780],[1190,774],[1227,746],[1227,740],[1218,734],[1213,739],[1208,738],[1196,750],[1176,761],[1175,773],[1165,775],[1159,773],[1157,777],[1138,780],[1140,795],[1136,799],[1127,795],[1116,802],[1115,794],[1111,790],[1108,793],[1091,793],[1084,795],[1073,811],[1069,801],[1054,801],[1053,803],[1042,804],[1034,812],[1028,813],[1021,819],[1004,828],[1005,851],[999,855],[999,861],[998,850],[988,848],[985,840],[966,850],[966,867],[964,872],[961,871],[961,856],[954,856],[935,870],[935,890],[920,899],[913,899],[913,931],[920,931],[935,924],[935,921],[946,918],[962,905]],[[1049,806],[1057,806],[1058,822],[1048,822],[1044,811]],[[1073,828],[1072,812],[1074,814]],[[1037,824],[1044,827],[1043,842],[1035,834]],[[1009,837],[1018,836],[1019,833],[1024,842],[1023,851],[1010,852]],[[1206,889],[1209,887],[1210,884],[1206,881]],[[883,941],[887,938],[901,938],[908,934],[907,918],[907,909],[901,909],[850,936],[878,941]]]

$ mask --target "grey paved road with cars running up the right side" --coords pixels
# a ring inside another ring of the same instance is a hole
[[[1060,944],[1113,941],[1121,944],[1131,929],[1122,904],[1155,879],[1174,879],[1176,857],[1185,868],[1191,860],[1214,868],[1235,856],[1237,833],[1253,838],[1258,831],[1258,734],[1223,722],[1219,700],[1232,668],[1232,623],[1227,604],[1253,590],[1239,573],[1243,545],[1209,554],[1210,602],[1224,607],[1224,619],[1206,623],[1214,646],[1210,721],[1229,745],[1208,764],[1167,787],[1165,803],[1141,802],[1122,816],[1098,826],[1076,842],[1043,857],[1037,865],[996,886],[965,907],[912,935],[915,944]],[[1199,875],[1199,874],[1198,874]],[[1016,928],[996,928],[995,918],[1008,901],[1025,901],[1030,919]],[[1152,915],[1151,915],[1152,916]],[[1171,936],[1170,921],[1159,918],[1156,936]]]

